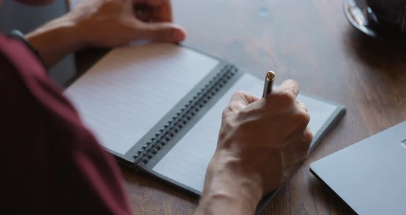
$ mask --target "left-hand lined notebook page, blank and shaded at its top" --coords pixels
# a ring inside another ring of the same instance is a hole
[[[125,154],[218,63],[167,43],[117,48],[65,95],[104,147]]]

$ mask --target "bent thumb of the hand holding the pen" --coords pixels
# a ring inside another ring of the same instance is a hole
[[[250,103],[253,103],[257,100],[259,100],[257,96],[253,96],[251,94],[242,91],[235,92],[235,94],[231,96],[231,100],[228,103],[223,114],[228,115],[240,112],[244,107],[246,107],[246,105],[249,105]]]

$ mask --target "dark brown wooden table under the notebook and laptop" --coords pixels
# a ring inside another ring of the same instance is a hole
[[[186,45],[257,76],[277,72],[303,92],[342,103],[347,115],[329,132],[264,214],[352,214],[309,172],[309,164],[406,120],[405,48],[356,32],[340,0],[173,1]],[[198,199],[122,167],[134,212],[191,214]]]

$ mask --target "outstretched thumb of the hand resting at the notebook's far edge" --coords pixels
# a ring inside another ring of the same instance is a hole
[[[136,39],[178,43],[186,38],[182,26],[175,23],[140,23],[136,29]]]

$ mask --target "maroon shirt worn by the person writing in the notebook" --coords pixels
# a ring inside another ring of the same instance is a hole
[[[17,39],[0,34],[0,205],[12,214],[131,214],[120,170]]]

